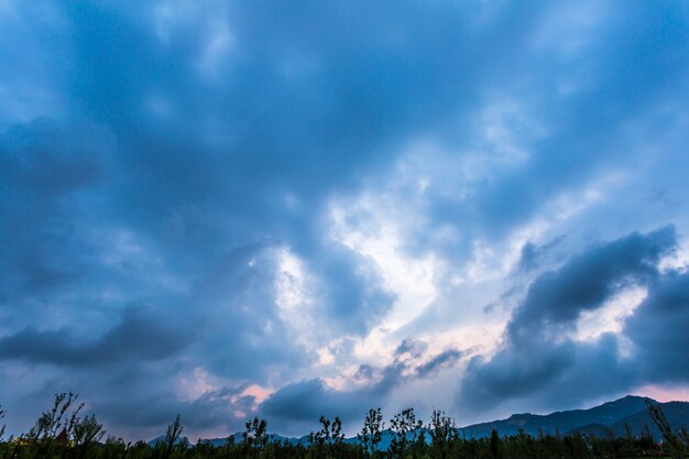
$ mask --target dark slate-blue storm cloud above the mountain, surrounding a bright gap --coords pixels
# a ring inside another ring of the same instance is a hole
[[[666,227],[589,249],[558,271],[542,274],[514,310],[499,352],[490,360],[470,361],[458,403],[486,408],[496,401],[522,398],[533,406],[553,406],[668,381],[674,373],[686,382],[686,372],[676,370],[686,356],[671,351],[679,349],[671,343],[685,341],[677,334],[687,321],[687,298],[680,293],[686,280],[658,270],[660,256],[676,248],[675,228]],[[634,345],[631,356],[624,357],[625,343],[615,334],[584,341],[567,336],[582,313],[600,308],[630,286],[648,288],[621,331]]]

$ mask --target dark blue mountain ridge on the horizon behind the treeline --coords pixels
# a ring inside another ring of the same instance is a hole
[[[497,430],[501,436],[517,435],[520,431],[532,436],[543,435],[571,435],[575,431],[588,434],[597,437],[608,437],[614,435],[622,437],[628,433],[639,436],[647,428],[656,440],[661,439],[660,431],[648,415],[646,403],[658,403],[653,398],[627,395],[614,402],[608,402],[600,406],[588,409],[570,409],[564,412],[555,412],[547,415],[537,414],[514,414],[506,419],[492,420],[490,423],[473,424],[458,428],[458,435],[466,438],[485,438],[491,435],[493,429]],[[667,420],[674,428],[681,426],[689,427],[689,402],[667,402],[658,403]],[[384,430],[382,440],[379,445],[380,449],[386,449],[393,437],[392,431]],[[236,433],[231,436],[234,442],[242,441],[242,434]],[[426,436],[428,438],[428,436]],[[158,437],[149,444],[154,445],[160,441]],[[284,441],[293,445],[306,444],[308,436],[300,438],[283,437],[271,434],[271,441]],[[226,438],[211,438],[208,441],[214,446],[222,446],[227,444]],[[357,444],[357,437],[344,439],[346,442]]]

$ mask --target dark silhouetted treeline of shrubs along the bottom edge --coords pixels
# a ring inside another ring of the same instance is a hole
[[[538,435],[526,433],[501,437],[493,430],[488,438],[466,438],[452,418],[434,411],[428,423],[413,408],[389,420],[390,445],[382,448],[385,422],[380,408],[370,409],[358,434],[358,441],[344,440],[339,417],[320,417],[320,429],[305,442],[271,441],[267,423],[258,417],[245,424],[241,441],[229,437],[215,446],[198,440],[190,445],[182,437],[179,416],[167,427],[164,439],[151,446],[144,441],[124,442],[106,438],[95,416],[81,416],[84,404],[74,394],[57,394],[29,433],[4,438],[0,427],[0,459],[582,459],[582,458],[683,458],[689,452],[686,429],[672,430],[658,405],[648,413],[664,435],[656,442],[648,431],[624,437],[591,437],[586,434]],[[4,412],[0,407],[0,420]]]

